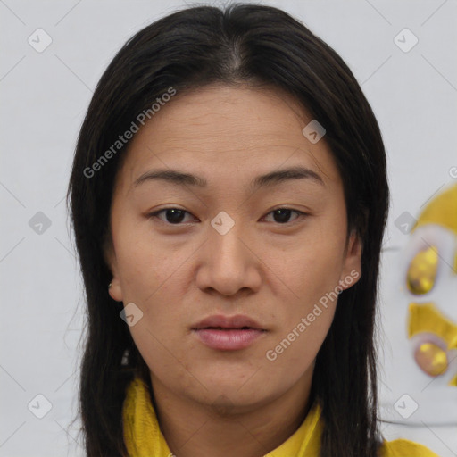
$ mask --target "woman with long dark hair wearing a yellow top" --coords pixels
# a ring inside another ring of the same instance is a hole
[[[87,455],[435,455],[378,434],[385,149],[302,23],[236,4],[140,30],[96,87],[69,197]]]

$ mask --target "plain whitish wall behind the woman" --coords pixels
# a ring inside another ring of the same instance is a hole
[[[404,211],[417,217],[440,188],[457,181],[450,174],[457,165],[457,2],[263,3],[292,13],[334,47],[373,107],[392,192],[386,270],[408,241],[395,219]],[[93,89],[113,55],[139,29],[184,5],[170,0],[0,1],[0,456],[83,455],[78,422],[69,428],[76,412],[84,309],[64,201],[72,154]],[[38,28],[52,38],[42,53],[28,42]],[[408,53],[394,42],[404,28],[419,39]],[[42,234],[29,227],[37,212],[51,222]],[[407,303],[401,298],[393,307],[395,286],[388,274],[382,287],[385,316],[390,313],[384,319],[386,352],[391,358],[408,357],[399,324]],[[413,371],[389,367],[392,362],[386,361],[382,403],[387,408],[395,395],[414,397],[420,390]],[[438,411],[457,410],[456,396],[443,392],[428,400],[438,402]],[[52,403],[41,420],[28,409],[38,394]],[[457,420],[443,426],[435,419],[382,428],[387,439],[409,437],[441,456],[457,455]]]

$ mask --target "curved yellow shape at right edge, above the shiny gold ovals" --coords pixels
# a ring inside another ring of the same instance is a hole
[[[426,206],[411,232],[426,224],[438,224],[457,233],[457,184],[437,195]]]

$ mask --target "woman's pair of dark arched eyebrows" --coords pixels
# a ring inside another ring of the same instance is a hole
[[[138,187],[146,181],[161,179],[171,184],[179,186],[207,187],[208,181],[202,177],[178,170],[149,170],[143,173],[133,183],[133,187]],[[311,179],[313,182],[325,187],[324,180],[318,173],[304,167],[290,167],[283,170],[275,170],[253,179],[251,187],[256,190],[260,187],[276,186],[282,182],[292,179]]]

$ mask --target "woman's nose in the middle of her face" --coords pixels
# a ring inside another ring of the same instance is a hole
[[[259,290],[262,283],[262,261],[235,224],[228,233],[221,235],[208,229],[208,239],[199,250],[199,268],[196,285],[207,293],[215,291],[233,298],[237,294],[249,294]]]

